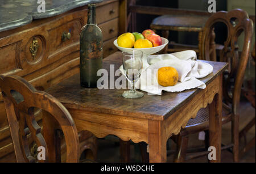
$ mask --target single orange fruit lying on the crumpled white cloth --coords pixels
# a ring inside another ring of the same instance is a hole
[[[177,80],[179,78],[179,74],[174,67],[161,67],[158,69],[158,84],[161,86],[175,86],[177,84]]]

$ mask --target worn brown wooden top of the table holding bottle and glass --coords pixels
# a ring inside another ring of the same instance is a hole
[[[205,62],[213,66],[213,73],[200,79],[205,84],[212,82],[228,65],[224,62]],[[103,60],[103,67],[108,72],[110,64],[114,65],[115,70],[119,69],[122,65],[122,53],[116,52]],[[113,116],[117,114],[164,120],[191,100],[200,90],[195,88],[183,92],[163,92],[162,96],[147,95],[144,92],[144,96],[140,99],[126,99],[122,97],[123,91],[126,90],[98,90],[98,88],[81,87],[80,75],[76,74],[48,88],[46,92],[56,97],[68,109],[82,109],[86,112],[106,113]]]

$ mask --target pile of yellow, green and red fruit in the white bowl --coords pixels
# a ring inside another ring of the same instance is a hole
[[[162,45],[162,39],[151,29],[142,33],[124,33],[117,39],[118,46],[123,48],[151,48]]]

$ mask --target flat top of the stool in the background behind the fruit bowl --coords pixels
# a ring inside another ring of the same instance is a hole
[[[152,29],[167,29],[174,31],[199,32],[204,27],[209,16],[200,15],[162,15],[151,23]]]

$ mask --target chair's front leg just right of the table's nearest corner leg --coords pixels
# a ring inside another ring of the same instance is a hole
[[[175,163],[182,163],[185,161],[188,147],[188,136],[177,136],[177,150],[174,156]]]

